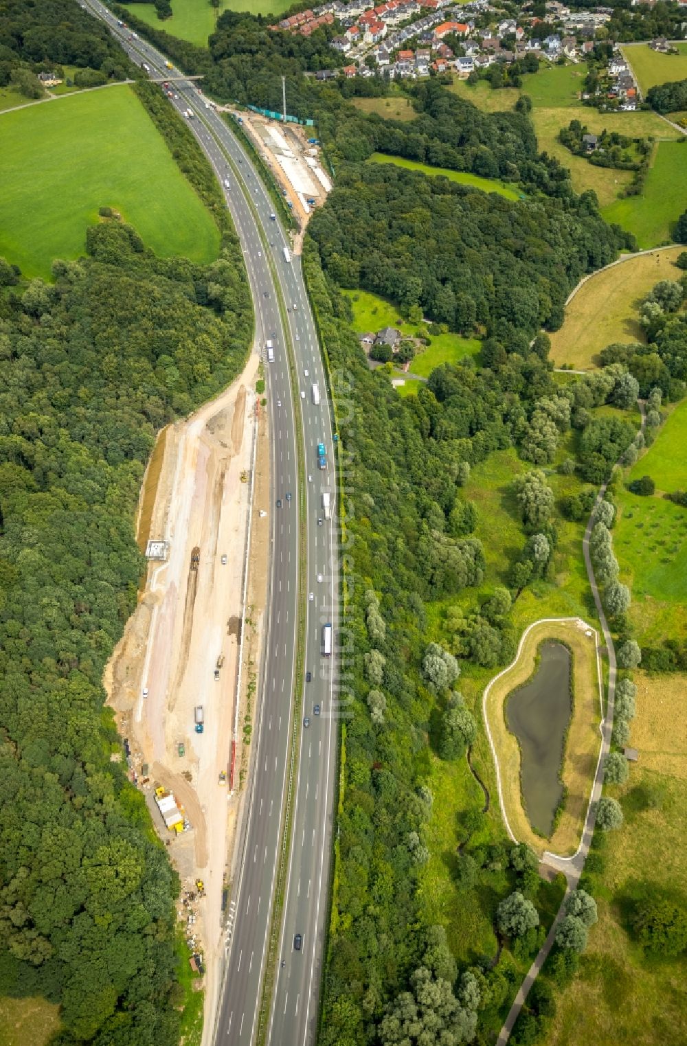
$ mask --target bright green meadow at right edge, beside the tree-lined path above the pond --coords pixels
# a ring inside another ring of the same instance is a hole
[[[684,638],[687,631],[687,511],[661,496],[687,487],[686,440],[684,401],[626,475],[625,481],[651,476],[657,494],[643,498],[625,485],[616,494],[614,546],[621,581],[632,589],[629,614],[640,644]]]

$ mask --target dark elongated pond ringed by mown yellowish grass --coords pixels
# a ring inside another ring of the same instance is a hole
[[[563,742],[570,723],[572,658],[563,643],[544,642],[528,683],[506,700],[506,724],[520,744],[521,789],[532,827],[550,836],[563,796]]]

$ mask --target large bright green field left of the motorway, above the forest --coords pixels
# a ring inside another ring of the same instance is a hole
[[[53,258],[83,253],[86,227],[101,205],[120,211],[163,256],[216,256],[214,222],[130,87],[72,95],[0,120],[0,254],[25,276],[48,277]]]

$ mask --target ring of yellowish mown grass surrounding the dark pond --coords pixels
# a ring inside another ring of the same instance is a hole
[[[581,838],[600,746],[595,636],[593,633],[588,637],[576,620],[537,621],[525,635],[517,660],[485,691],[484,712],[499,760],[505,814],[518,841],[528,843],[540,855],[544,849],[563,856],[573,854]],[[547,639],[559,639],[570,647],[573,658],[573,710],[560,774],[566,798],[549,840],[532,831],[525,813],[520,747],[506,726],[504,707],[508,696],[534,674],[539,647]]]

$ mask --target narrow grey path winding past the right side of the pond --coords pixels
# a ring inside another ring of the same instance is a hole
[[[640,432],[644,429],[644,404],[639,401],[639,409],[641,413],[641,426]],[[603,764],[605,757],[609,754],[611,747],[611,734],[613,732],[613,711],[615,704],[615,691],[616,691],[616,652],[613,645],[613,637],[609,630],[609,624],[605,618],[605,613],[601,605],[601,598],[599,596],[598,586],[596,584],[596,577],[594,576],[594,568],[592,567],[592,560],[589,551],[589,539],[592,533],[592,527],[594,526],[594,511],[603,499],[606,486],[609,485],[608,480],[602,484],[599,493],[596,496],[596,501],[594,502],[594,507],[589,518],[587,524],[587,529],[585,530],[585,537],[582,539],[582,552],[585,555],[585,566],[587,568],[587,576],[589,577],[590,588],[592,590],[592,595],[594,596],[594,605],[596,607],[596,612],[599,617],[599,622],[601,624],[601,632],[603,634],[603,640],[605,642],[606,655],[609,659],[609,691],[606,698],[606,704],[604,709],[604,715],[601,720],[601,748],[599,750],[599,758],[596,765],[596,773],[594,775],[594,786],[592,788],[592,794],[590,796],[589,808],[587,811],[587,819],[585,821],[585,827],[582,831],[582,838],[580,840],[577,851],[572,857],[558,857],[556,854],[550,854],[545,850],[542,863],[546,864],[548,867],[554,868],[557,871],[562,871],[566,877],[567,889],[566,894],[563,899],[560,908],[556,913],[556,917],[551,924],[551,929],[547,934],[547,938],[542,945],[542,948],[536,954],[534,961],[527,971],[525,980],[520,985],[518,995],[516,996],[513,1003],[510,1007],[508,1016],[504,1021],[503,1027],[499,1032],[499,1038],[497,1040],[497,1046],[505,1046],[512,1031],[513,1024],[518,1019],[518,1016],[525,1004],[529,990],[531,988],[534,980],[536,979],[546,958],[553,947],[553,941],[555,939],[556,930],[558,928],[558,923],[563,918],[565,903],[568,894],[576,889],[577,883],[579,882],[579,877],[582,873],[582,868],[585,867],[585,861],[587,860],[587,855],[589,852],[589,847],[592,842],[592,836],[594,835],[594,825],[596,823],[596,804],[601,797],[601,788],[603,786]],[[487,727],[488,730],[488,727]],[[489,737],[490,742],[490,737]],[[497,765],[497,776],[498,776],[498,761],[496,756],[496,751],[494,746],[491,746],[491,752]],[[503,803],[502,803],[503,811]]]

